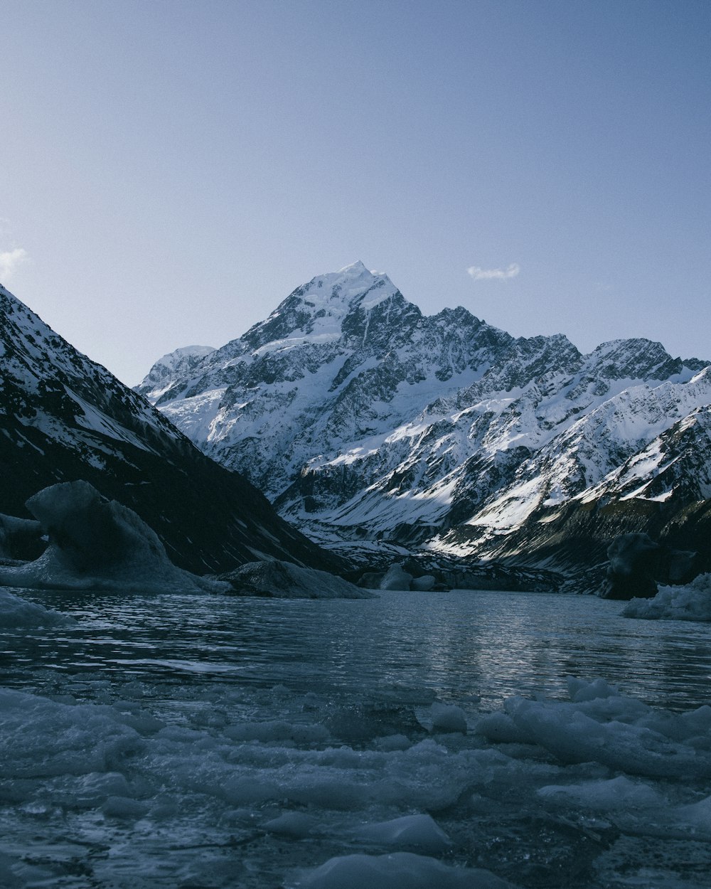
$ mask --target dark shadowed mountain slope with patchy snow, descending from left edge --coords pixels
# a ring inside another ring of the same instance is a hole
[[[28,518],[30,496],[79,478],[134,509],[189,571],[261,557],[333,565],[244,477],[0,286],[0,513]]]

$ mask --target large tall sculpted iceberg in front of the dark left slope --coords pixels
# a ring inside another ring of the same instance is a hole
[[[157,534],[88,482],[52,485],[30,497],[50,543],[27,565],[0,566],[0,584],[39,589],[222,592],[226,584],[177,568]]]

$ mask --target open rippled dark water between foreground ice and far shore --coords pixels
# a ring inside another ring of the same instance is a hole
[[[563,677],[602,676],[672,709],[708,700],[711,629],[634,621],[595,597],[452,590],[357,601],[241,597],[28,596],[74,628],[0,634],[0,681],[37,671],[161,683],[288,685],[332,693],[395,687],[444,700],[561,696]],[[3,644],[4,643],[4,644]]]

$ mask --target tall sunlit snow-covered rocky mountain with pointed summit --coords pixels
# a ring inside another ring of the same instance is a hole
[[[710,403],[705,361],[643,339],[581,355],[563,335],[516,339],[465,308],[423,316],[362,263],[299,287],[156,395],[315,539],[539,564],[583,557],[569,540],[579,512],[615,503],[619,528],[659,513],[659,532],[706,500]],[[675,469],[645,456],[667,453],[665,435],[695,441]]]

